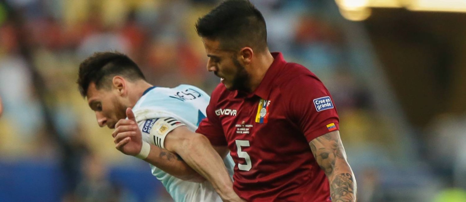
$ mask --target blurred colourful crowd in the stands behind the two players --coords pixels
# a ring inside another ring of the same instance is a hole
[[[415,141],[404,141],[410,134],[398,129],[403,114],[397,114],[397,120],[382,113],[384,103],[377,101],[375,91],[388,84],[382,78],[382,84],[371,83],[373,78],[361,73],[371,71],[361,66],[380,67],[363,65],[354,58],[348,34],[352,30],[342,26],[347,21],[340,17],[334,1],[251,1],[267,21],[270,50],[308,67],[332,93],[361,202],[430,201],[439,188],[453,186],[451,180],[439,180],[441,175],[419,159],[416,149],[405,152],[417,146],[412,144]],[[130,192],[128,184],[108,178],[105,169],[109,168],[145,173],[150,168],[115,150],[111,130],[97,127],[93,112],[77,91],[77,68],[93,52],[118,51],[134,59],[153,85],[191,84],[211,92],[219,79],[206,71],[207,57],[194,24],[217,2],[0,1],[0,97],[4,104],[0,183],[9,179],[2,177],[8,175],[2,173],[7,170],[1,168],[5,162],[58,162],[64,179],[60,200],[169,200],[159,186],[152,186],[157,195],[141,198]],[[464,131],[459,129],[459,134]],[[466,176],[464,153],[457,157],[463,163],[458,165],[463,168],[456,172],[458,180]],[[466,188],[464,180],[459,182]],[[425,195],[425,191],[432,193]]]

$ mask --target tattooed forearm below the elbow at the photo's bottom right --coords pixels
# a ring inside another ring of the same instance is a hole
[[[356,202],[356,178],[348,163],[336,163],[327,177],[333,202]]]

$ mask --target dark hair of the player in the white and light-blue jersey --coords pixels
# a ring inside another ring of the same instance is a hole
[[[89,85],[96,88],[110,87],[114,76],[123,76],[130,81],[143,79],[144,75],[128,56],[119,52],[95,52],[79,65],[78,88],[82,97],[86,97]]]

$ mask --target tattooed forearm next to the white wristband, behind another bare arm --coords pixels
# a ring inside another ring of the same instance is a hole
[[[190,182],[204,182],[206,180],[179,156],[155,145],[151,145],[151,152],[144,161],[181,180]]]

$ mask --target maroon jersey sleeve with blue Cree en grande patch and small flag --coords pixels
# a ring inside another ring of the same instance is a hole
[[[313,75],[293,79],[284,89],[289,99],[289,116],[296,122],[307,141],[339,130],[339,118],[332,96]]]

